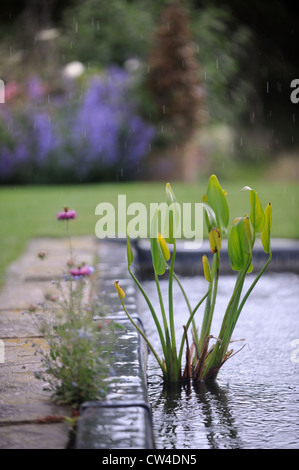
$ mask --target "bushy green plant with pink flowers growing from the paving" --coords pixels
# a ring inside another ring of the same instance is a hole
[[[57,219],[67,224],[70,260],[62,280],[52,281],[57,296],[31,306],[31,315],[46,341],[46,348],[37,350],[42,367],[35,377],[46,383],[54,402],[77,410],[84,401],[105,396],[110,354],[107,344],[111,343],[112,328],[104,317],[101,319],[97,299],[89,302],[86,295],[95,275],[93,267],[84,263],[75,266],[73,262],[68,224],[75,216],[68,208],[58,213]],[[47,257],[44,251],[38,256],[42,260]]]

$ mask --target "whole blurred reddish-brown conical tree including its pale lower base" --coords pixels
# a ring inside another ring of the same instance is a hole
[[[195,178],[198,152],[193,144],[204,118],[204,90],[188,13],[178,0],[162,11],[144,85],[154,105],[151,116],[160,128],[161,147],[160,152],[154,149],[148,174],[161,179]]]

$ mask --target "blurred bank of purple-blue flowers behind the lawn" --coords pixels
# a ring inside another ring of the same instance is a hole
[[[0,108],[0,181],[100,181],[134,178],[154,128],[138,114],[128,73],[112,67],[80,90],[50,96],[33,78],[26,100]],[[72,96],[70,98],[70,95]]]

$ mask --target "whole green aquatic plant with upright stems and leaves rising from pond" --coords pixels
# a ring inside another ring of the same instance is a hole
[[[234,290],[228,302],[227,309],[223,316],[222,326],[217,338],[211,335],[211,325],[213,314],[217,301],[218,280],[220,273],[220,253],[222,239],[228,233],[229,225],[229,206],[227,202],[226,192],[222,189],[217,177],[212,175],[208,182],[207,192],[203,196],[204,218],[208,229],[208,237],[210,249],[212,252],[212,266],[210,267],[208,257],[202,257],[203,272],[208,286],[205,295],[197,302],[194,308],[191,307],[182,282],[175,273],[176,259],[176,227],[179,223],[178,205],[174,192],[169,183],[166,185],[166,200],[169,210],[165,222],[165,237],[158,231],[158,210],[151,221],[150,246],[152,254],[152,265],[159,298],[159,304],[162,314],[162,322],[159,321],[157,312],[146,294],[141,283],[132,271],[133,250],[130,238],[127,236],[127,260],[128,271],[136,283],[138,289],[143,295],[153,320],[161,342],[163,357],[159,357],[151,342],[145,333],[138,327],[130,316],[125,306],[125,292],[115,282],[122,307],[139,331],[141,336],[147,342],[149,349],[154,354],[163,374],[166,383],[180,381],[200,381],[215,379],[219,369],[232,356],[233,351],[228,351],[232,334],[236,326],[240,313],[246,303],[250,293],[256,283],[266,270],[270,263],[271,244],[271,218],[272,207],[269,203],[263,211],[256,191],[249,187],[243,188],[250,192],[250,216],[244,215],[234,220],[228,234],[228,254],[231,261],[232,269],[238,272]],[[256,275],[254,281],[250,285],[247,292],[242,297],[244,281],[247,273],[252,271],[253,247],[256,235],[261,233],[261,241],[264,251],[268,253],[268,260]],[[168,248],[168,244],[172,245],[172,252]],[[165,300],[162,297],[159,276],[168,274],[168,315],[165,309]],[[189,311],[189,318],[185,325],[182,325],[182,337],[177,343],[175,336],[174,324],[174,301],[173,301],[173,282],[176,281],[186,301]],[[201,330],[198,334],[195,322],[195,314],[199,307],[205,301],[205,309],[203,312]],[[188,330],[192,326],[192,343],[190,346],[188,340]],[[210,340],[215,339],[216,342],[210,347]],[[183,351],[186,345],[186,364],[182,369]],[[194,351],[194,352],[192,352]]]

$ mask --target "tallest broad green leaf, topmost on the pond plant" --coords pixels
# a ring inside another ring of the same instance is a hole
[[[229,207],[225,192],[223,191],[216,175],[211,175],[208,182],[207,200],[216,215],[217,228],[222,233],[227,232],[229,222]]]

